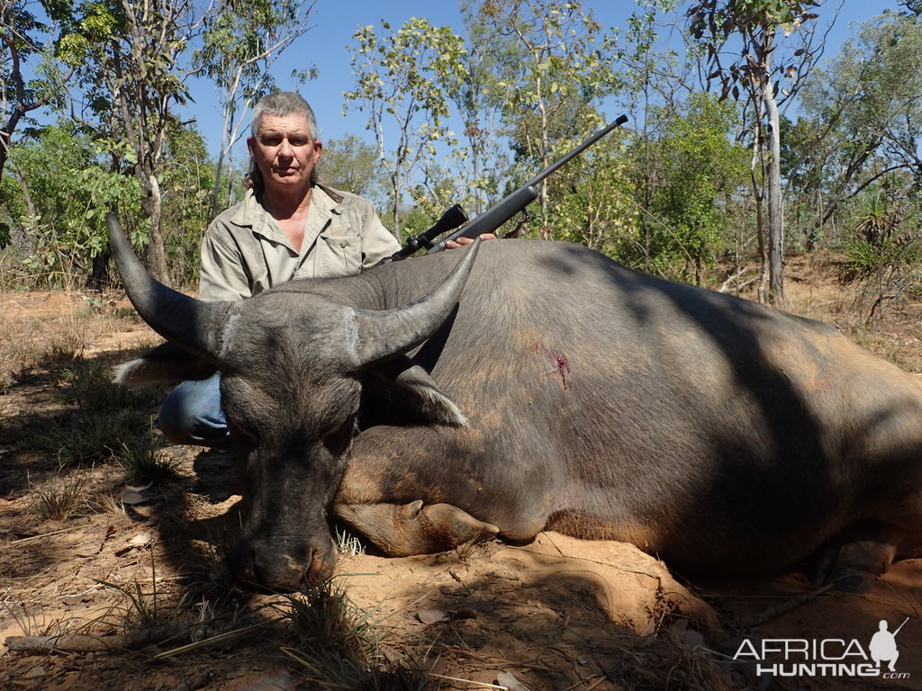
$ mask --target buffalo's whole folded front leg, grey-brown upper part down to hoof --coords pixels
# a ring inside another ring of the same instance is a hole
[[[559,479],[508,455],[491,462],[489,445],[474,427],[371,427],[353,443],[331,513],[391,556],[534,537]]]

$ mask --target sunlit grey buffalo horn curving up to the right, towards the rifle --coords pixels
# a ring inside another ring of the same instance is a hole
[[[479,244],[479,238],[474,240],[442,285],[426,297],[393,310],[355,310],[359,324],[356,354],[361,367],[406,353],[442,326],[461,297]]]

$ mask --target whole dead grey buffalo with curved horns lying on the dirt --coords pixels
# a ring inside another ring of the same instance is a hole
[[[110,235],[189,354],[123,381],[222,374],[242,580],[329,574],[328,512],[396,556],[551,529],[712,573],[832,555],[851,589],[922,544],[922,387],[820,322],[534,240],[205,303]]]

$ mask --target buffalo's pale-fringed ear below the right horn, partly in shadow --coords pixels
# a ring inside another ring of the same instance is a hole
[[[399,356],[365,370],[366,425],[431,424],[467,427],[467,417],[425,369]]]

